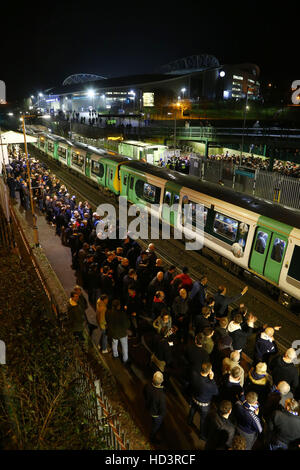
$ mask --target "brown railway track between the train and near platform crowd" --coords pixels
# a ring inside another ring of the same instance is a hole
[[[115,195],[111,195],[107,190],[97,187],[95,183],[93,184],[93,182],[84,176],[78,175],[75,171],[63,167],[37,149],[32,149],[31,153],[37,156],[39,160],[44,161],[50,170],[65,183],[69,192],[72,191],[79,200],[88,200],[93,209],[96,209],[103,202],[117,205]],[[245,284],[249,285],[248,293],[241,299],[241,302],[245,302],[248,310],[255,314],[257,325],[261,326],[267,323],[270,326],[282,326],[280,331],[275,334],[280,351],[286,350],[291,347],[294,340],[300,339],[300,319],[264,294],[257,286],[251,285],[246,272],[244,273],[245,277],[238,278],[199,252],[185,250],[180,240],[139,240],[139,244],[143,248],[150,242],[155,242],[157,254],[162,258],[165,266],[174,264],[182,267],[186,265],[189,267],[189,273],[193,279],[199,279],[205,273],[209,280],[208,292],[210,294],[214,294],[217,286],[222,284],[229,287],[230,295],[238,294]],[[232,304],[232,308],[237,307],[238,304],[239,302]],[[249,341],[246,349],[249,358],[251,358],[252,352],[253,341]]]

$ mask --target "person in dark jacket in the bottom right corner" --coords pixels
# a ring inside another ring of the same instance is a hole
[[[300,441],[299,403],[294,398],[285,401],[285,409],[277,410],[268,422],[270,450],[297,448]]]

